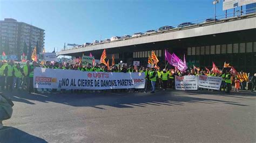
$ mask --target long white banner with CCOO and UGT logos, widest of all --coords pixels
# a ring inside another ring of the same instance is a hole
[[[37,67],[34,69],[33,87],[87,90],[144,88],[144,77],[144,73],[103,73]]]

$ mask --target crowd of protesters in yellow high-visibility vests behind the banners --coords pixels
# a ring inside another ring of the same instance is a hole
[[[46,61],[44,63],[33,61],[32,64],[30,61],[26,61],[25,65],[20,65],[20,63],[14,63],[14,61],[9,60],[8,62],[0,61],[0,87],[1,90],[27,90],[28,92],[37,92],[33,88],[33,69],[35,67],[51,68],[51,69],[70,69],[70,70],[80,70],[80,71],[100,71],[100,72],[122,72],[122,73],[133,73],[133,72],[143,72],[145,73],[146,85],[144,91],[147,89],[152,89],[152,93],[155,91],[155,88],[160,88],[166,90],[167,88],[175,89],[175,76],[184,76],[184,75],[206,75],[206,76],[220,76],[222,77],[222,83],[220,90],[229,92],[231,90],[232,84],[235,85],[234,90],[245,90],[246,82],[240,81],[238,77],[230,74],[228,70],[221,71],[220,73],[212,73],[210,70],[186,70],[179,71],[178,69],[168,69],[164,68],[162,70],[150,68],[150,67],[136,67],[126,65],[118,66],[105,66],[99,65],[98,63],[95,66],[92,66],[91,63],[88,63],[86,66],[83,66],[82,63],[76,63],[70,65],[69,63],[60,63],[60,62],[50,62]],[[242,71],[241,71],[242,72]],[[250,75],[248,75],[250,77]],[[251,91],[254,90],[256,85],[256,74],[250,77]],[[249,89],[249,88],[247,88]],[[203,90],[203,89],[200,89]],[[42,89],[42,92],[55,92],[56,89]],[[65,90],[61,90],[65,91]],[[117,91],[117,90],[112,90]],[[125,91],[125,90],[120,90]],[[131,92],[131,89],[128,90]],[[134,89],[134,92],[138,92],[138,89]]]

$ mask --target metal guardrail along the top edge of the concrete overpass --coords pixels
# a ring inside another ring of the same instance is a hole
[[[248,10],[251,10],[251,11],[247,12]],[[147,36],[150,36],[150,35],[156,35],[156,34],[161,34],[161,33],[166,33],[166,32],[179,31],[179,30],[184,30],[184,29],[187,29],[187,28],[224,23],[224,22],[228,22],[228,21],[231,21],[231,20],[237,20],[237,19],[242,19],[242,18],[251,17],[251,16],[256,16],[256,8],[242,10],[242,11],[238,10],[238,11],[234,11],[234,12],[230,12],[230,13],[225,13],[225,15],[216,16],[216,19],[214,19],[214,17],[208,17],[208,18],[204,18],[204,19],[193,20],[193,21],[189,22],[189,23],[192,23],[191,25],[184,25],[184,26],[181,26],[181,27],[178,27],[178,25],[180,25],[180,24],[169,25],[169,26],[174,27],[174,28],[171,28],[169,30],[159,31],[158,28],[157,28],[157,29],[152,29],[156,32],[153,32],[153,33],[150,33],[150,34],[146,34],[146,32],[142,32],[144,34],[138,35],[136,37],[122,38],[122,39],[118,39],[118,40],[114,40],[114,41],[105,41],[105,42],[101,42],[101,43],[97,43],[97,44],[91,44],[91,45],[87,45],[87,46],[81,45],[80,47],[66,48],[66,49],[62,49],[61,51],[68,51],[68,50],[71,50],[71,49],[82,48],[82,46],[83,47],[90,47],[90,46],[102,45],[102,44],[106,44],[106,43],[110,43],[110,42],[118,42],[118,41],[130,40],[130,39],[135,39],[135,38],[140,38],[140,37],[147,37]],[[212,20],[210,22],[206,22],[206,19],[212,19]]]

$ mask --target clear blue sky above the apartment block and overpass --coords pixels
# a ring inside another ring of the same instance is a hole
[[[64,42],[145,32],[165,25],[214,17],[213,0],[0,0],[0,20],[14,18],[45,30],[45,51],[60,51]],[[225,15],[222,1],[217,15]],[[227,12],[232,12],[228,10]]]

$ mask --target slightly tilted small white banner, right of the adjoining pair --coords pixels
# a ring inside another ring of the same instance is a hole
[[[222,78],[218,76],[206,76],[206,75],[198,76],[199,88],[219,90],[221,81],[222,81]]]

